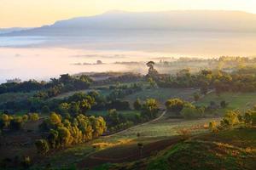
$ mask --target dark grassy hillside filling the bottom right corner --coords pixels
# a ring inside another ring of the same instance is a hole
[[[97,169],[253,170],[255,167],[255,128],[240,128],[187,139],[142,161],[106,164]]]

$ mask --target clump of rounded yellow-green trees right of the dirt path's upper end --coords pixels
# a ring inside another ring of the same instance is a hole
[[[173,113],[173,116],[182,116],[185,119],[200,118],[205,115],[206,108],[192,105],[182,99],[168,99],[166,110]]]

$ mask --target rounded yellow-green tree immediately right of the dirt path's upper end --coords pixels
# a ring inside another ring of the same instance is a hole
[[[179,114],[183,110],[184,102],[182,99],[168,99],[166,101],[167,111],[172,111]]]

